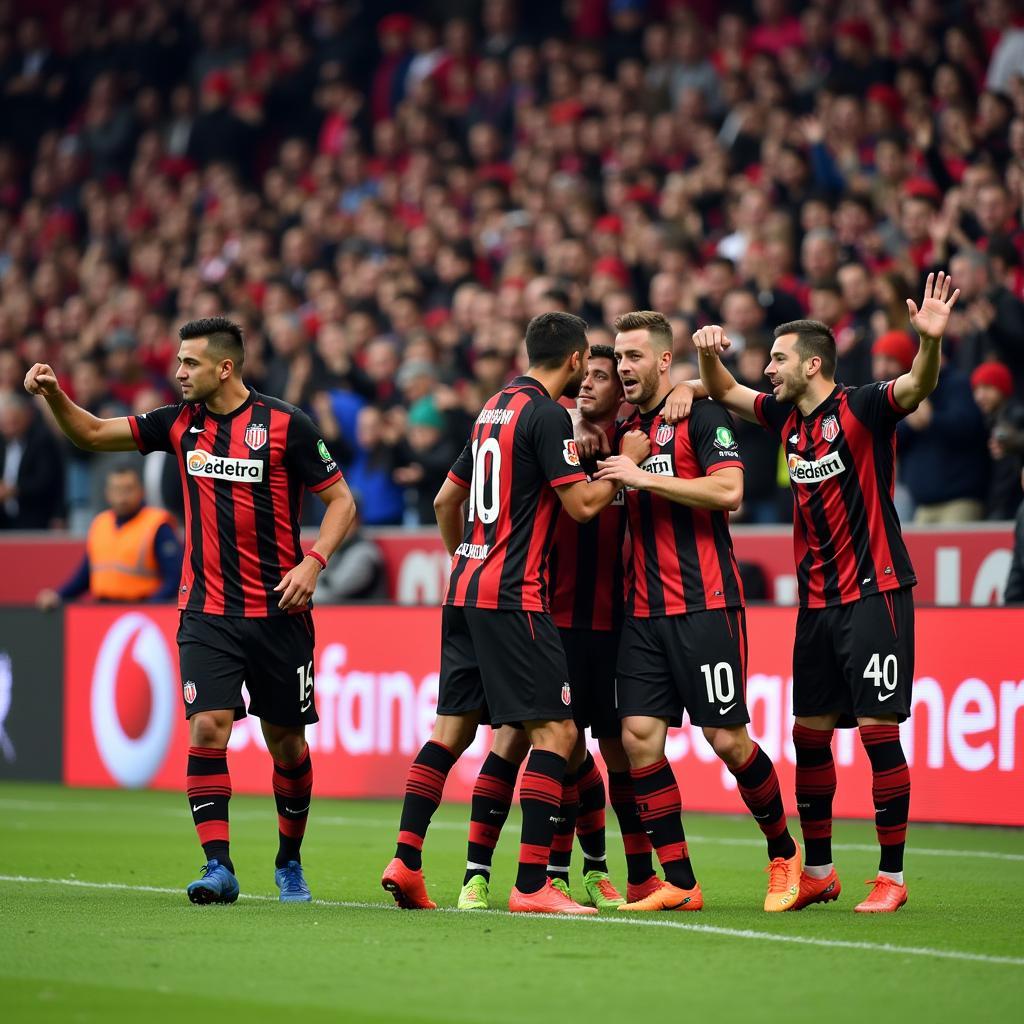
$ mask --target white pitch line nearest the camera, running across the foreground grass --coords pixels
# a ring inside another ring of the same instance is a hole
[[[161,886],[129,886],[121,882],[86,882],[82,879],[37,879],[24,874],[0,874],[0,882],[20,885],[68,886],[78,889],[104,889],[121,892],[158,893],[160,895],[180,896],[180,889],[170,889]],[[244,900],[260,902],[279,902],[274,896],[264,896],[253,893],[243,893]],[[394,907],[384,903],[356,903],[347,900],[314,899],[313,906],[341,907],[349,910],[385,910],[396,911]],[[507,910],[457,910],[455,907],[443,907],[441,913],[490,914],[493,916],[511,918]],[[930,956],[933,959],[968,961],[976,964],[998,964],[1006,967],[1024,967],[1024,957],[994,956],[989,953],[973,953],[959,949],[931,949],[928,946],[899,946],[891,942],[855,942],[850,939],[820,939],[806,935],[778,935],[773,932],[757,932],[750,928],[721,928],[717,925],[688,924],[681,921],[651,921],[637,918],[604,918],[604,916],[570,916],[558,913],[535,913],[534,920],[554,921],[559,924],[580,922],[585,927],[593,925],[622,925],[631,928],[670,928],[681,932],[697,932],[705,935],[720,935],[724,938],[748,939],[761,942],[786,942],[803,946],[821,946],[827,949],[859,949],[864,952],[887,953],[906,956]]]

